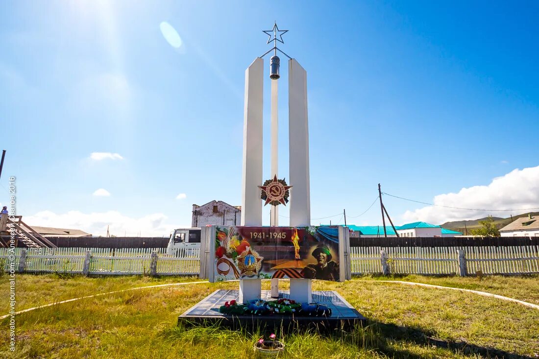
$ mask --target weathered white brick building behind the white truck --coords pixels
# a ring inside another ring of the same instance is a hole
[[[192,227],[206,225],[239,225],[241,206],[232,206],[223,201],[211,201],[201,206],[193,205]]]

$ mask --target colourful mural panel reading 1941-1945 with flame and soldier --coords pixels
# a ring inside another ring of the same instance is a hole
[[[217,226],[214,280],[306,278],[338,281],[336,226]]]

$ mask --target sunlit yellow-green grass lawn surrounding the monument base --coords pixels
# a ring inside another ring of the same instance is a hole
[[[472,293],[404,286],[359,277],[315,281],[336,290],[369,324],[354,333],[278,335],[286,358],[526,357],[539,355],[539,310]],[[395,279],[395,278],[386,278]],[[475,289],[539,302],[538,277],[401,277],[398,280]],[[17,310],[137,286],[197,278],[17,276]],[[7,314],[8,278],[0,277]],[[269,282],[262,284],[269,289]],[[0,322],[0,357],[6,358],[254,358],[260,333],[177,327],[177,316],[218,288],[205,283],[107,294],[17,316],[17,351],[8,351],[8,320]],[[287,281],[281,282],[287,288]],[[474,354],[475,353],[475,354]]]

